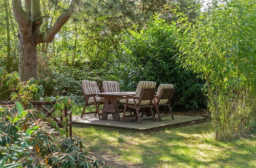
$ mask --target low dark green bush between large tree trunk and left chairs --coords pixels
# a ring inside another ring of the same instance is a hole
[[[106,71],[106,68],[92,68],[89,63],[82,64],[79,67],[52,63],[38,69],[38,81],[45,88],[53,88],[56,91],[68,90],[68,92],[76,95],[82,95],[82,80],[101,83],[105,79],[115,79],[113,75]]]

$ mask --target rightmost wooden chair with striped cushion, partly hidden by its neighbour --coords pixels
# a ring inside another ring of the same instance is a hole
[[[170,115],[172,115],[172,118],[174,120],[173,111],[170,108],[170,100],[172,100],[174,94],[174,85],[173,84],[162,84],[158,87],[155,99],[153,103],[156,107],[159,106],[167,106]]]

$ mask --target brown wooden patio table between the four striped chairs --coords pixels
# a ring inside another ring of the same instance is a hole
[[[104,92],[93,93],[92,95],[104,98],[101,120],[108,120],[108,114],[112,114],[114,121],[120,121],[118,99],[126,95],[135,95],[135,92]]]

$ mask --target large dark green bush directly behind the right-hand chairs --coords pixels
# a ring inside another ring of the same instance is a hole
[[[123,36],[120,59],[114,68],[124,90],[133,90],[141,80],[172,83],[175,86],[173,107],[191,109],[205,105],[201,91],[204,81],[177,64],[178,48],[174,45],[175,23],[165,23],[159,15],[144,30],[130,30]]]

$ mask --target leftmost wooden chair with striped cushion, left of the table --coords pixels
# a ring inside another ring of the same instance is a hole
[[[92,93],[100,93],[99,88],[96,81],[89,81],[89,80],[82,80],[82,93],[84,98],[86,99],[84,102],[84,107],[82,110],[82,115],[85,114],[86,107],[90,105],[95,105],[96,111],[89,112],[87,114],[95,113],[95,116],[98,114],[99,120],[100,120],[100,114],[99,114],[99,105],[103,104],[104,99],[101,97],[98,97],[96,95],[92,95]]]

